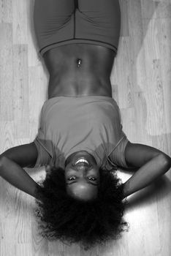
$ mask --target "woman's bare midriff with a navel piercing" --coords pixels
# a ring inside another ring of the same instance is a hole
[[[115,52],[89,44],[52,48],[44,54],[50,73],[48,99],[59,96],[112,97],[110,73]]]

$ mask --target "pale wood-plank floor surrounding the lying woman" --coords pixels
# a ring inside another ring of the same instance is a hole
[[[122,27],[113,65],[113,97],[132,143],[171,156],[171,0],[121,0]],[[48,74],[37,54],[34,0],[0,1],[0,153],[32,142],[47,99]],[[26,169],[39,181],[45,170]],[[133,173],[118,171],[126,181]],[[169,256],[171,172],[128,197],[129,232],[118,241],[84,252],[47,242],[37,232],[34,197],[0,178],[1,256]]]

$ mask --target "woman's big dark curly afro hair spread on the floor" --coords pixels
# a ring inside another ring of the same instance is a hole
[[[64,169],[52,167],[44,181],[39,181],[35,215],[40,234],[48,240],[80,243],[84,249],[121,238],[129,224],[123,211],[123,184],[113,173],[99,168],[100,184],[94,200],[80,200],[66,192]],[[126,230],[127,231],[127,230]]]

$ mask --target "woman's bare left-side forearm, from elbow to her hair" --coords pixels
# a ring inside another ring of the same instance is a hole
[[[39,200],[36,193],[39,185],[20,165],[7,157],[0,158],[0,176],[13,186]]]

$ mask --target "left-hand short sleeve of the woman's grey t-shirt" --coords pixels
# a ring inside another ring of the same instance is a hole
[[[53,165],[52,157],[50,154],[47,152],[44,146],[42,146],[42,143],[39,143],[39,140],[36,138],[34,140],[35,145],[37,146],[37,151],[38,151],[38,157],[37,157],[37,162],[34,165],[34,167],[41,167],[43,165]]]

